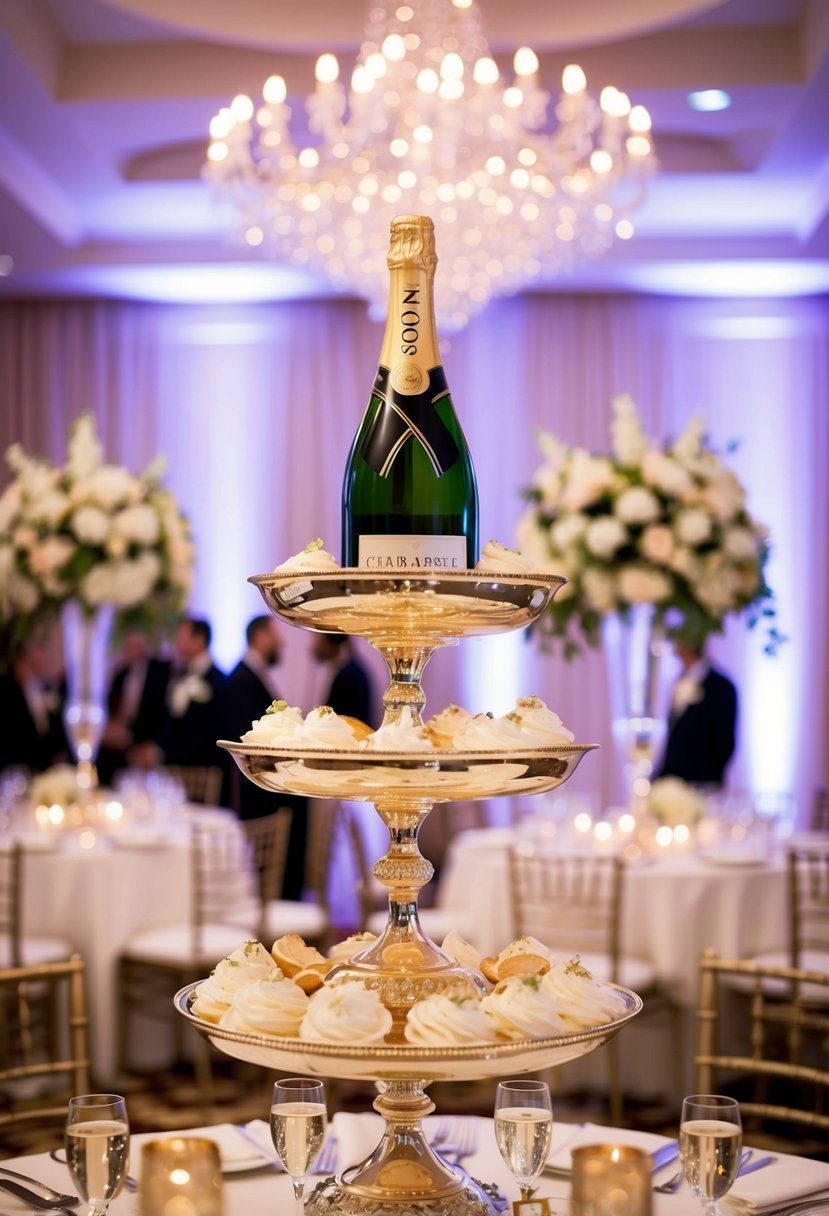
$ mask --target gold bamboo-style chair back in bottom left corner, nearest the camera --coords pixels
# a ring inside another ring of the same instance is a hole
[[[84,961],[0,972],[0,1130],[63,1124],[69,1098],[89,1093]]]

